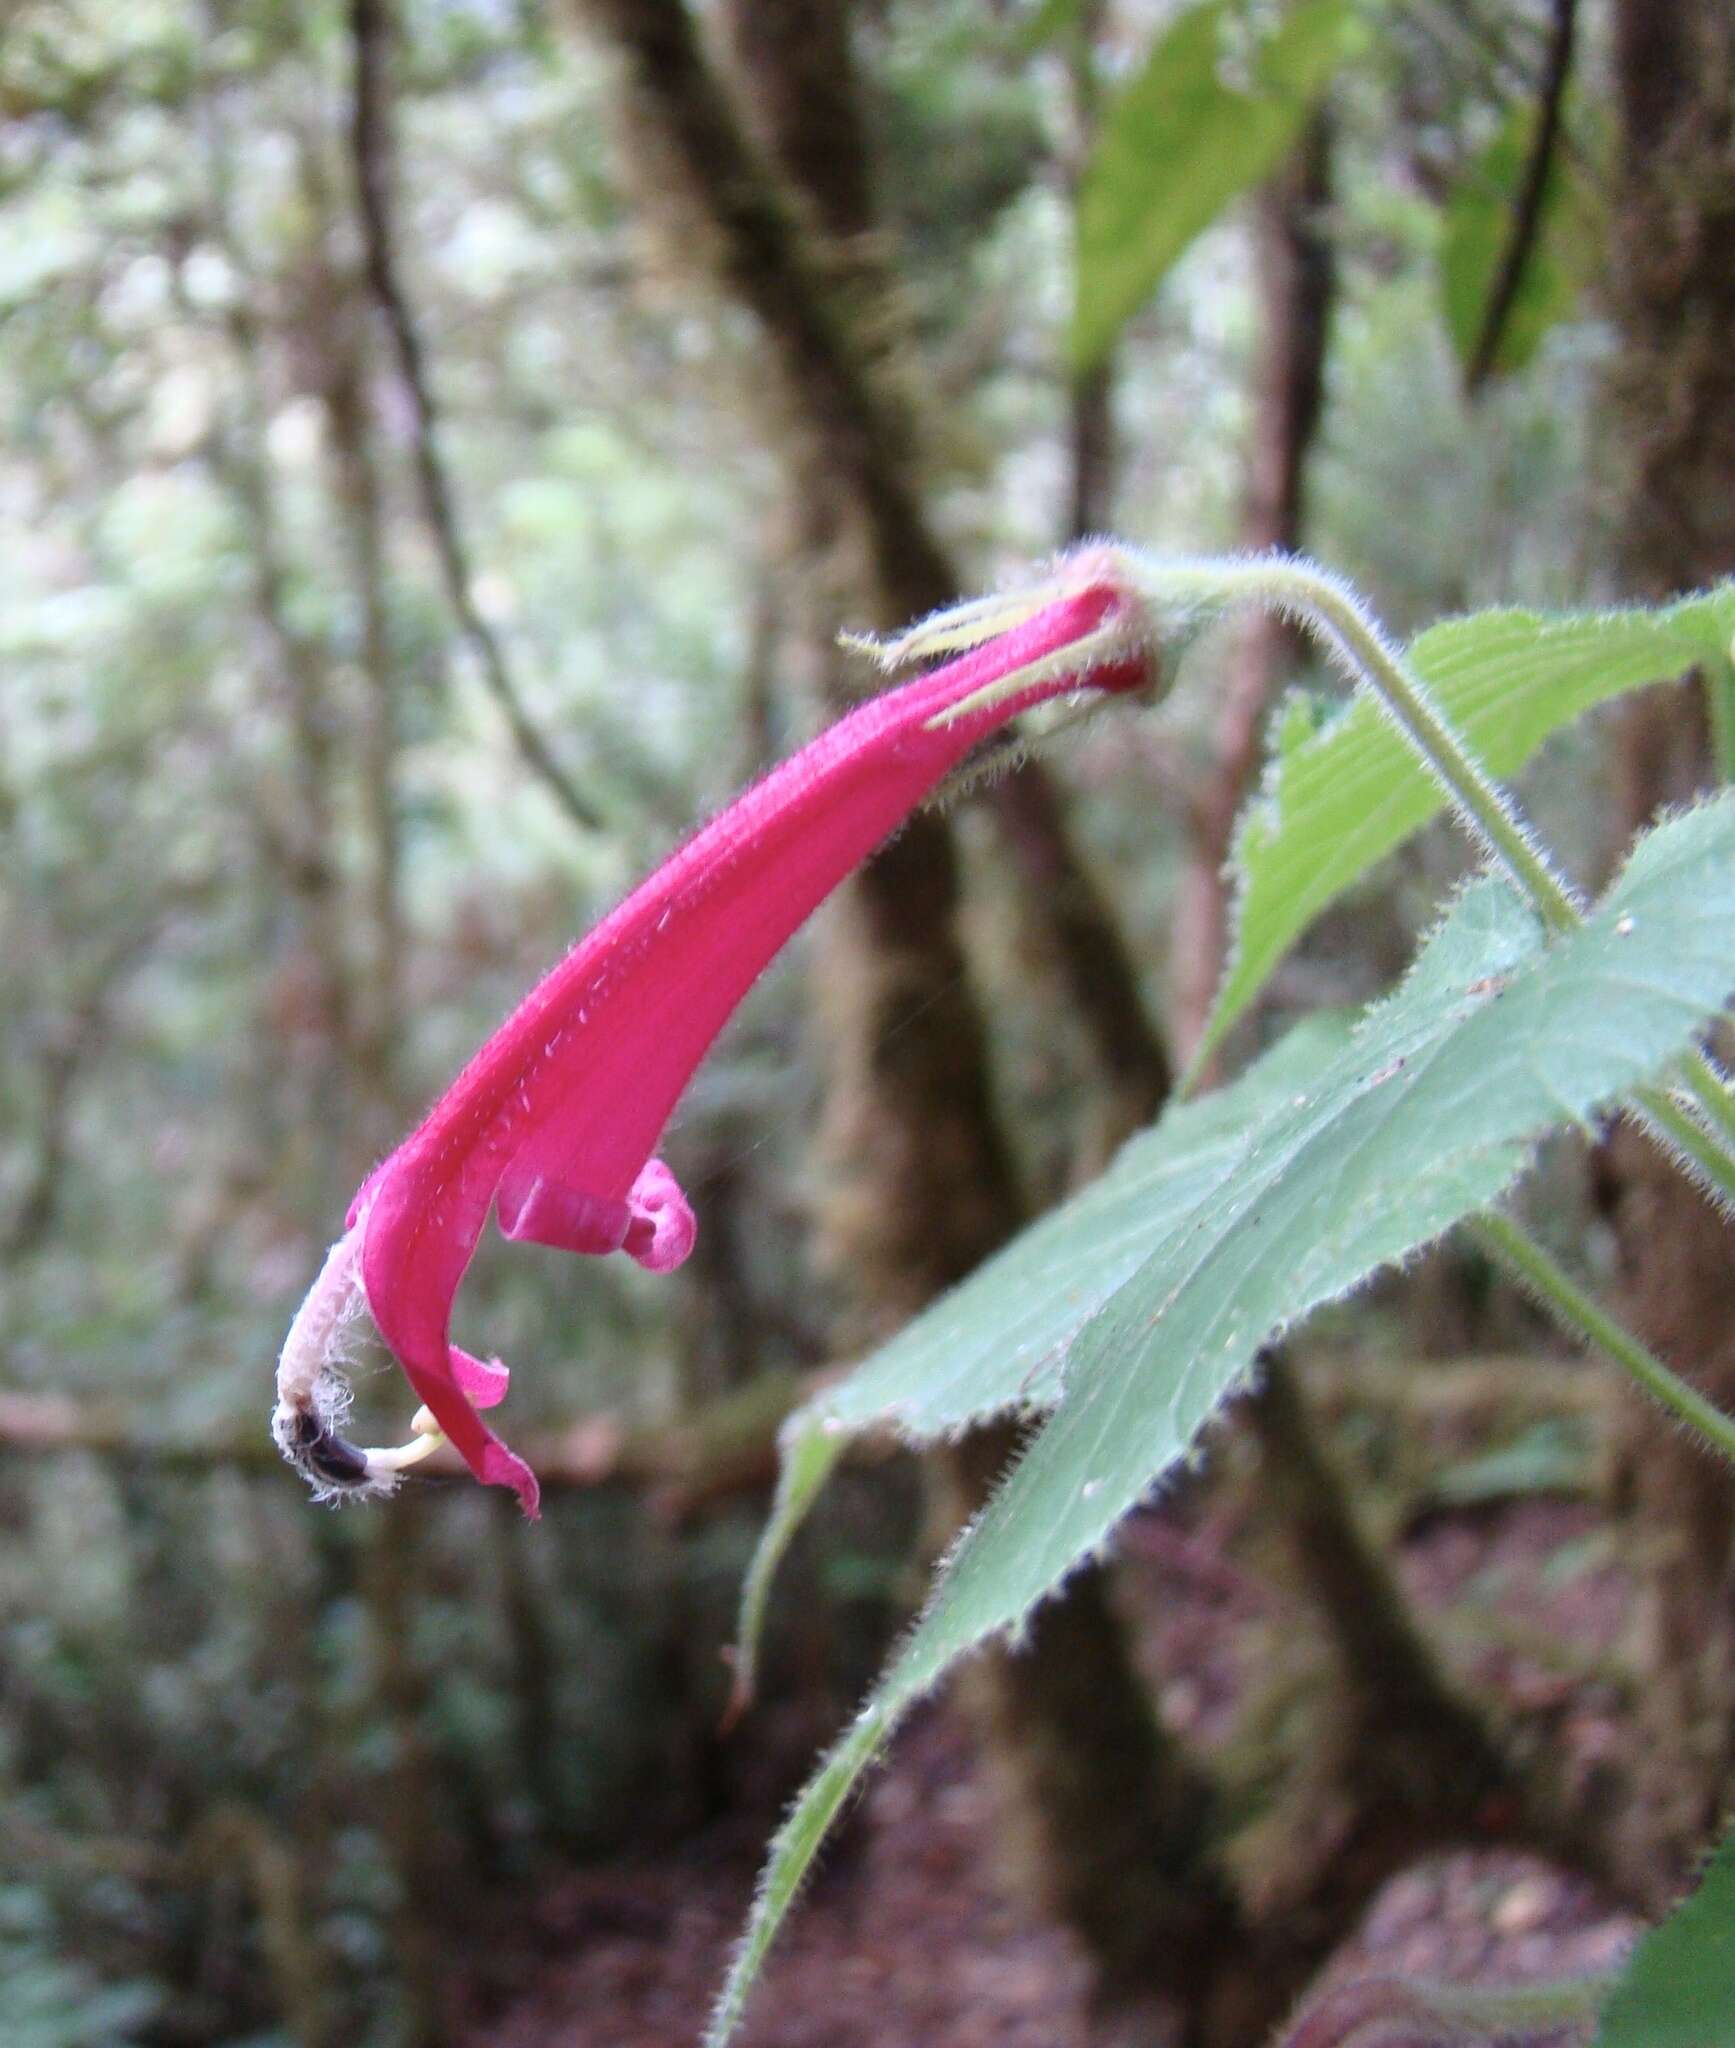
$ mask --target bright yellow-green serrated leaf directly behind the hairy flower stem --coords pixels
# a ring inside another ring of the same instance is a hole
[[[1731,635],[1735,584],[1655,612],[1477,612],[1417,635],[1409,659],[1485,766],[1512,774],[1592,705],[1721,657]],[[1194,1067],[1319,911],[1444,807],[1366,696],[1315,737],[1297,737],[1280,727],[1235,836],[1235,948]]]

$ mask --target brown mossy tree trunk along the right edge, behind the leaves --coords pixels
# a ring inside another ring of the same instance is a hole
[[[1631,588],[1661,598],[1735,569],[1735,12],[1725,0],[1620,0],[1622,178],[1610,309],[1610,416],[1626,457]],[[1710,774],[1694,684],[1620,721],[1620,834]],[[1635,1128],[1598,1161],[1624,1309],[1719,1405],[1735,1405],[1735,1233]],[[1649,1559],[1643,1729],[1628,1851],[1657,1896],[1735,1794],[1735,1516],[1729,1475],[1635,1405],[1626,1473]]]

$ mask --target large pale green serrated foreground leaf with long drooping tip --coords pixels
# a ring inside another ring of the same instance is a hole
[[[1479,881],[1403,987],[1348,1042],[1315,1055],[1311,1073],[1288,1073],[1293,1094],[1245,1100],[1239,1130],[1213,1120],[1211,1102],[1166,1118],[1147,1155],[1163,1157],[1166,1128],[1182,1139],[1155,1192],[1141,1194],[1129,1176],[1112,1180],[1118,1200],[1088,1190],[899,1339],[905,1364],[924,1329],[940,1333],[938,1356],[973,1348],[969,1399],[979,1401],[1022,1384],[1020,1362],[1002,1356],[996,1366],[993,1354],[1012,1352],[1041,1296],[1071,1290],[1071,1313],[1086,1315],[1065,1348],[1053,1415],[959,1542],[871,1706],[772,1843],[713,2048],[733,2034],[830,1817],[899,1714],[959,1657],[1018,1628],[1106,1542],[1262,1343],[1493,1202],[1538,1137],[1663,1069],[1721,1008],[1731,979],[1735,795],[1649,834],[1596,913],[1549,944],[1504,883]],[[1207,1159],[1209,1171],[1196,1169]],[[1147,1227],[1141,1204],[1159,1217],[1127,1272],[1127,1233]],[[1092,1227],[1077,1225],[1082,1210]],[[1055,1225],[1067,1217],[1067,1257],[1057,1262]],[[1020,1286],[1026,1257],[1041,1262],[1039,1284]],[[1036,1341],[1030,1364],[1047,1366],[1053,1329]],[[881,1372],[871,1362],[860,1378]],[[899,1399],[907,1421],[912,1395]],[[832,1397],[834,1415],[842,1401]],[[930,1423],[963,1405],[957,1391],[942,1395]]]

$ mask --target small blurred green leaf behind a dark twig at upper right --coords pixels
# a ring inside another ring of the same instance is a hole
[[[1469,166],[1446,207],[1440,240],[1440,303],[1452,348],[1465,369],[1475,360],[1495,279],[1512,240],[1512,215],[1524,182],[1534,127],[1534,106],[1514,109],[1487,150]],[[1536,240],[1524,262],[1524,274],[1518,281],[1518,293],[1493,356],[1495,371],[1524,369],[1536,354],[1542,336],[1555,322],[1565,319],[1577,297],[1577,279],[1567,248],[1573,211],[1573,195],[1567,190],[1569,174],[1571,160],[1555,152],[1542,193]]]

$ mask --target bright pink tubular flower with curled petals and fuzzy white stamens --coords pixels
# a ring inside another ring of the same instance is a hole
[[[277,1374],[272,1434],[320,1495],[389,1491],[445,1436],[535,1516],[535,1475],[477,1413],[506,1393],[506,1368],[451,1343],[490,1208],[510,1239],[678,1266],[692,1210],[651,1147],[772,954],[1016,713],[1151,680],[1143,614],[1102,547],[1032,590],[918,625],[883,657],[959,647],[971,651],[864,702],[696,831],[537,983],[367,1178]],[[344,1333],[363,1305],[424,1403],[420,1444],[358,1450],[338,1436]]]

